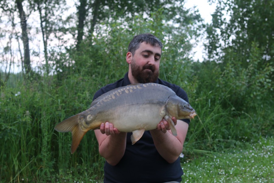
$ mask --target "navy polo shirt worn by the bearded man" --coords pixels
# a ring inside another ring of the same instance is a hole
[[[171,88],[177,96],[181,97],[188,102],[186,92],[175,84],[167,81],[157,79],[155,83],[165,85]],[[98,90],[93,100],[97,99],[100,95],[122,86],[131,84],[128,79],[128,73],[125,77],[112,84],[107,84],[105,87]],[[189,119],[182,119],[186,123],[190,123]],[[111,121],[110,121],[111,122]],[[159,121],[160,123],[160,121]],[[127,142],[125,154],[120,162],[112,166],[107,161],[104,165],[104,182],[168,182],[177,181],[181,182],[181,176],[184,174],[180,164],[180,157],[174,163],[168,163],[160,156],[155,148],[152,136],[149,131],[145,131],[142,138],[132,145],[130,136],[132,132],[127,133]]]

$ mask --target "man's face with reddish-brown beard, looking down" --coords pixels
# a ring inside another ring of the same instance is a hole
[[[132,56],[132,76],[139,83],[150,83],[156,81],[159,76],[161,48],[151,46],[142,42],[140,47]]]

